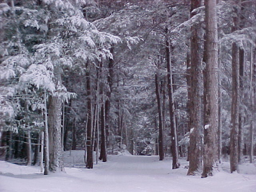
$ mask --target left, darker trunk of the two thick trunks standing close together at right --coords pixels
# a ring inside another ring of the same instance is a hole
[[[195,8],[201,6],[201,0],[191,0],[191,12]],[[191,17],[194,14],[191,13]],[[202,71],[201,71],[201,45],[200,45],[200,26],[193,25],[191,26],[191,38],[190,38],[190,59],[191,59],[191,69],[190,69],[190,80],[191,80],[191,93],[189,94],[191,98],[190,100],[190,153],[189,157],[189,168],[187,175],[195,175],[198,173],[199,168],[202,167],[202,149],[200,142],[200,129],[201,129],[201,97],[200,97],[200,79],[202,79]],[[202,132],[202,131],[201,131]]]

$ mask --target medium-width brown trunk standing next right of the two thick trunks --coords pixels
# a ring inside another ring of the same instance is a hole
[[[236,13],[236,11],[235,11]],[[233,18],[232,32],[236,31],[238,19]],[[231,129],[230,129],[230,172],[238,169],[238,88],[239,88],[239,48],[236,42],[232,43],[232,102],[231,102]]]

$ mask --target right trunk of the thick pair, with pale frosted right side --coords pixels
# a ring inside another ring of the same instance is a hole
[[[216,0],[205,0],[206,41],[204,47],[204,147],[201,177],[212,176],[217,160],[216,133],[218,127],[218,33]]]

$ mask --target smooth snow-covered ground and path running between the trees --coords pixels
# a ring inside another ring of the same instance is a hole
[[[77,168],[83,151],[66,153],[66,173],[47,176],[37,166],[19,166],[0,161],[0,192],[256,192],[256,167],[240,166],[240,174],[228,173],[228,163],[213,177],[186,176],[188,163],[171,170],[171,160],[158,156],[108,156],[93,169]],[[73,154],[73,155],[72,155]],[[70,161],[70,162],[68,162]],[[81,165],[80,165],[81,166]]]

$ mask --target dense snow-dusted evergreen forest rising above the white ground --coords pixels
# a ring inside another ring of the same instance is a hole
[[[206,178],[255,162],[255,127],[255,0],[0,0],[0,160],[128,150]]]

